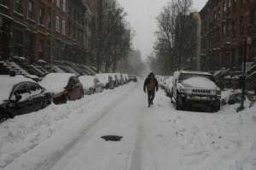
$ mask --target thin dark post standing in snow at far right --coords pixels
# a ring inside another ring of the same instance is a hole
[[[243,56],[243,63],[242,63],[242,75],[241,75],[241,105],[237,108],[236,112],[244,110],[244,101],[245,101],[245,94],[246,94],[246,77],[247,77],[247,47],[251,45],[252,37],[246,37],[244,41],[244,56]]]

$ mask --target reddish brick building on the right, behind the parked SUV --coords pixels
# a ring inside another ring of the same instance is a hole
[[[251,7],[250,0],[209,0],[201,9],[202,69],[241,68],[245,39],[251,37]],[[253,60],[253,48],[247,48],[247,60]]]

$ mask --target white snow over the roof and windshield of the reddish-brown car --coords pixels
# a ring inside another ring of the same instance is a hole
[[[65,90],[70,77],[75,77],[75,75],[71,73],[49,73],[39,84],[49,92],[59,94]]]

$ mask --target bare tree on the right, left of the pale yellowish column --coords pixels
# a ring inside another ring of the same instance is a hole
[[[193,22],[190,20],[192,0],[172,0],[163,8],[157,22],[157,41],[154,55],[158,64],[163,65],[160,72],[181,69],[189,53],[189,36]]]

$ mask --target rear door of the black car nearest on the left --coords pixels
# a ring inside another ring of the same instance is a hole
[[[44,89],[35,82],[28,82],[30,91],[31,111],[38,111],[44,105]]]

